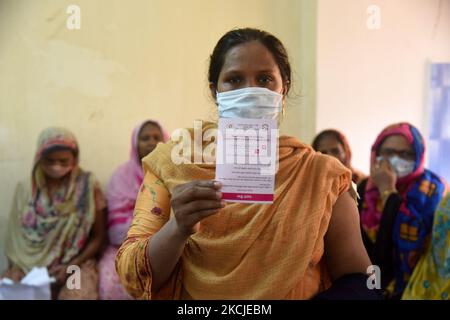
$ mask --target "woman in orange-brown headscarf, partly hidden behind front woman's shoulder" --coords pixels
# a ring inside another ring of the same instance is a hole
[[[366,178],[364,173],[352,167],[350,144],[341,132],[334,129],[324,130],[314,138],[311,146],[316,151],[335,157],[344,166],[349,168],[352,171],[352,181],[354,183],[358,184]]]

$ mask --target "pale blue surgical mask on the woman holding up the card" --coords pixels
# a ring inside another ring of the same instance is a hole
[[[217,92],[221,118],[278,119],[282,100],[282,94],[261,87]]]

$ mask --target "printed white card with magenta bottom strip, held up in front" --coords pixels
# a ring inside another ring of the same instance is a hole
[[[221,118],[216,180],[229,202],[272,203],[278,166],[278,128],[273,119]]]

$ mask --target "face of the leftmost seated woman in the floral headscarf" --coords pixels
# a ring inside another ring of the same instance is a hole
[[[53,151],[42,158],[40,165],[47,178],[62,179],[75,166],[75,157],[70,150]]]

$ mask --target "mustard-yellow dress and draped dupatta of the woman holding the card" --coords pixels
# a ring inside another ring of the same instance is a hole
[[[206,123],[203,133],[215,127]],[[192,137],[193,130],[189,132]],[[173,163],[175,146],[158,144],[143,159],[144,184],[128,238],[116,258],[122,284],[134,297],[309,299],[330,286],[324,237],[337,198],[351,186],[351,173],[338,160],[282,136],[274,203],[229,203],[202,220],[170,279],[152,294],[146,252],[152,235],[169,219],[165,211],[170,211],[173,188],[215,177],[214,164]],[[162,213],[153,212],[156,205]]]

